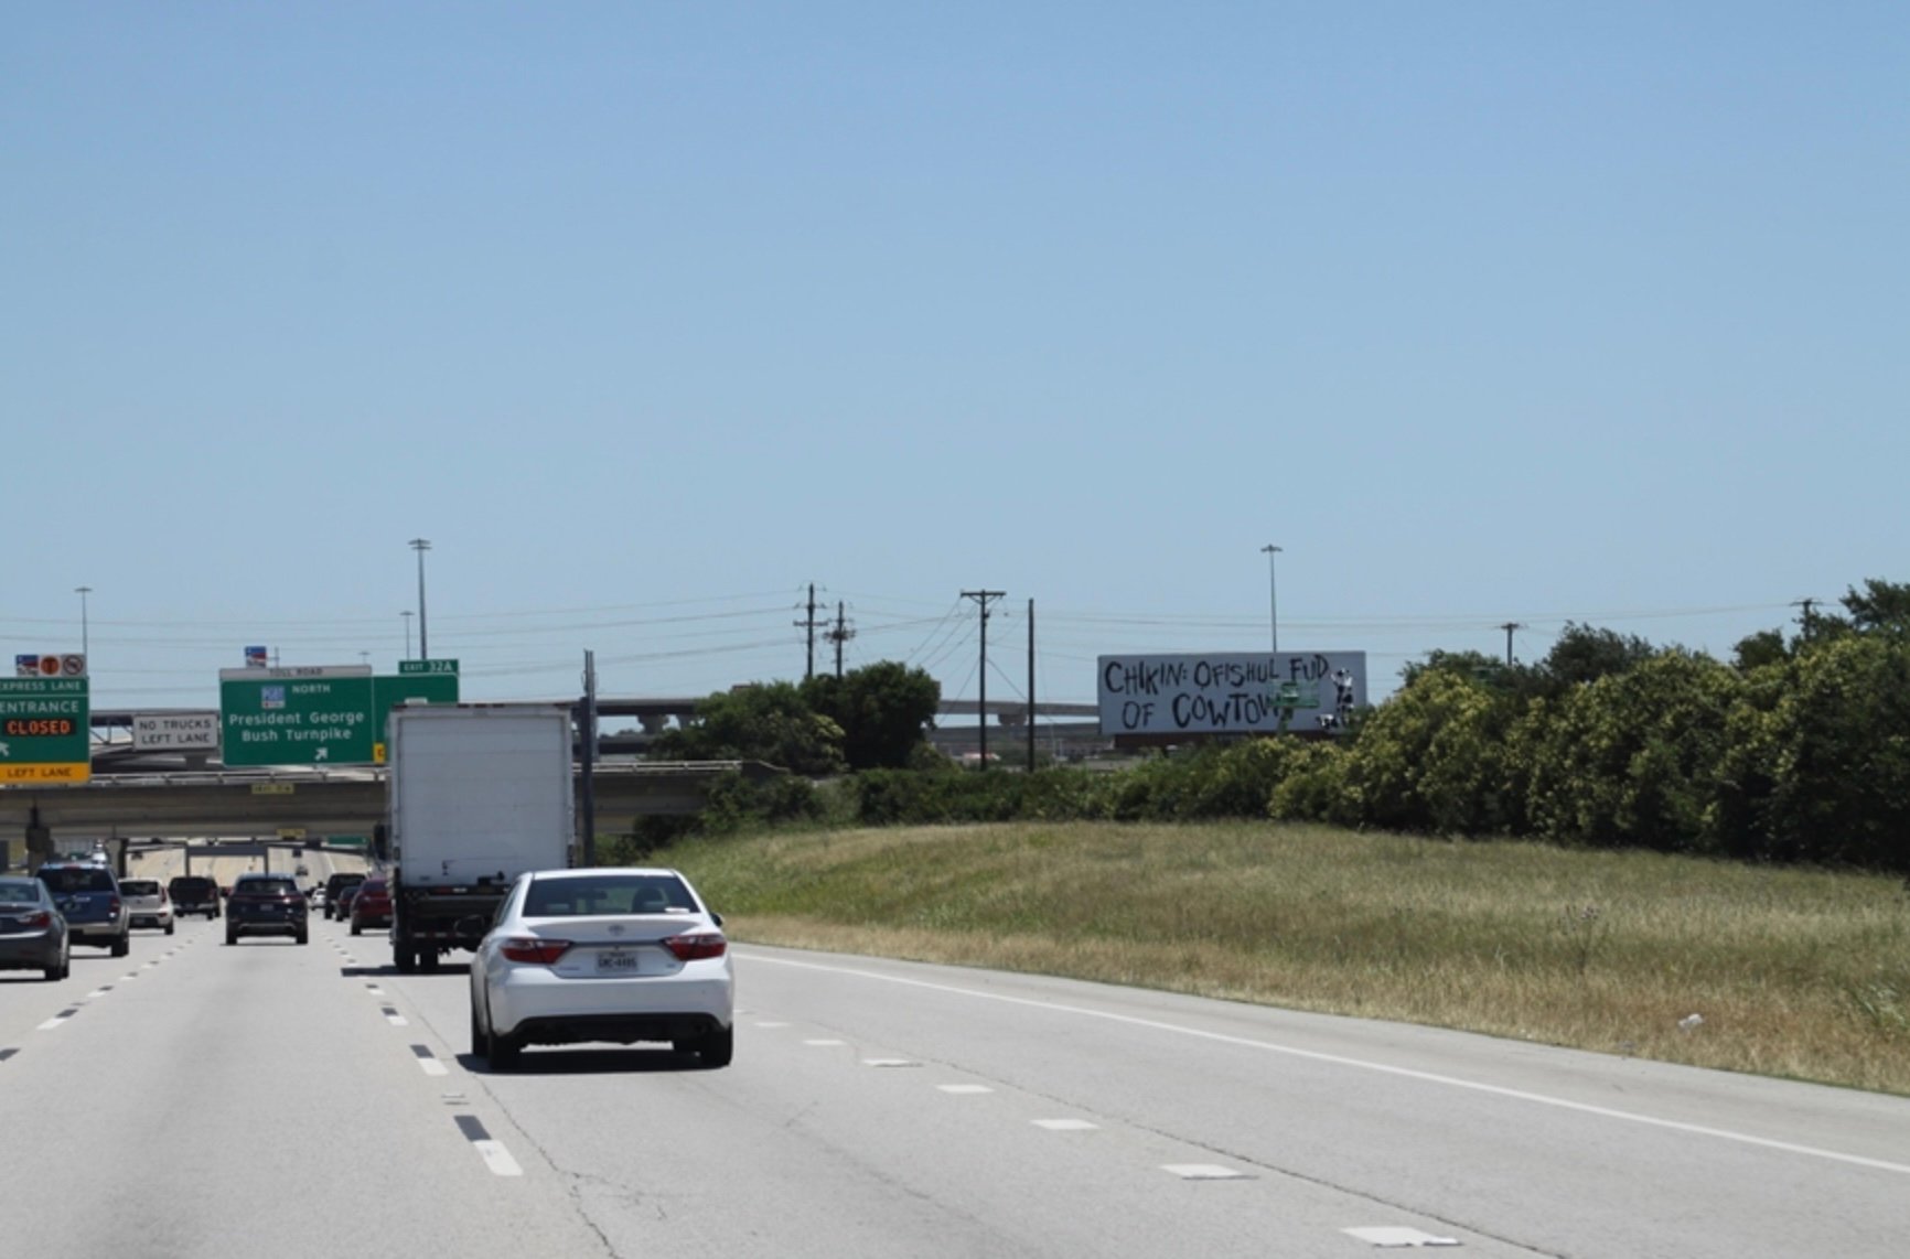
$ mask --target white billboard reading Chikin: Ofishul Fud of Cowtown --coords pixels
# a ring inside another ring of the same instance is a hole
[[[1366,699],[1366,651],[1102,655],[1102,736],[1345,730]]]

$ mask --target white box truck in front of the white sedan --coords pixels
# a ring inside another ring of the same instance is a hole
[[[392,957],[474,950],[518,875],[577,843],[571,707],[407,703],[386,726]]]

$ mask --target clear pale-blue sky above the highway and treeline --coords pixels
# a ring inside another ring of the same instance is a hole
[[[0,650],[474,699],[1910,579],[1910,6],[29,4]],[[823,646],[817,667],[833,667]]]

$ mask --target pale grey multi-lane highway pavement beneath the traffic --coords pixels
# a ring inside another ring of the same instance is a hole
[[[136,871],[147,873],[147,871]],[[149,877],[159,877],[151,871]],[[313,877],[321,877],[313,865]],[[1910,1100],[737,946],[735,1064],[468,1055],[460,959],[218,923],[0,972],[6,1253],[1897,1255]]]

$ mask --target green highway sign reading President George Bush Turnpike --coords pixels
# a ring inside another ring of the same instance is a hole
[[[220,669],[220,743],[227,766],[371,764],[371,665]]]

